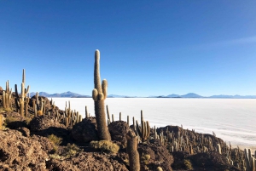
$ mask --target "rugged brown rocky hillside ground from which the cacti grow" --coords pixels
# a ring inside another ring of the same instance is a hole
[[[97,149],[90,144],[98,140],[95,117],[84,118],[73,126],[67,125],[56,119],[56,111],[59,114],[64,111],[50,105],[47,98],[44,98],[48,104],[47,114],[34,117],[31,101],[29,115],[20,117],[15,111],[14,101],[11,109],[3,109],[2,95],[0,90],[0,119],[3,123],[0,130],[0,170],[129,170],[125,134],[133,128],[132,125],[124,121],[110,123],[108,129],[112,142],[119,146],[119,151]],[[226,155],[229,149],[224,141],[213,135],[198,134],[177,126],[157,128],[156,132],[167,138],[155,139],[151,128],[148,140],[138,144],[142,171],[242,170],[242,158],[230,150],[232,164]],[[181,145],[176,149],[173,142]],[[227,152],[217,152],[217,144]]]

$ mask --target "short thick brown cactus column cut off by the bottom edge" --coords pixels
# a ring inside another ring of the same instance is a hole
[[[139,171],[140,170],[140,159],[139,153],[137,151],[137,136],[130,130],[126,134],[127,140],[127,153],[129,156],[129,165],[130,171]]]

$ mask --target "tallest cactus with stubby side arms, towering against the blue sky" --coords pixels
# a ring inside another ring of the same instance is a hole
[[[94,100],[94,109],[96,115],[97,130],[100,140],[111,140],[105,114],[104,100],[107,98],[108,82],[102,80],[100,75],[100,51],[95,51],[94,63],[94,89],[92,90],[92,99]]]

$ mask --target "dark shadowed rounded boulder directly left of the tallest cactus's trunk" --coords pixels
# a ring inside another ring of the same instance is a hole
[[[84,118],[82,122],[75,124],[72,128],[72,136],[74,140],[80,143],[98,140],[96,117]]]

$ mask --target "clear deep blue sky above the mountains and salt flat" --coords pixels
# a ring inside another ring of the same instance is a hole
[[[0,85],[91,94],[256,94],[256,1],[0,1]]]

